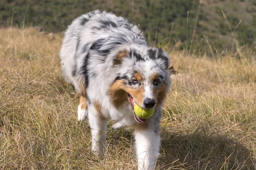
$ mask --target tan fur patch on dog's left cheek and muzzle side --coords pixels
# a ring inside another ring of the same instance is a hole
[[[125,86],[123,83],[124,80],[117,80],[109,88],[108,94],[113,105],[119,108],[120,105],[129,100],[128,94],[130,94],[137,105],[143,106],[144,86],[141,86],[139,89],[133,89]]]

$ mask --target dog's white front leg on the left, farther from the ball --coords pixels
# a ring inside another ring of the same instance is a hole
[[[105,154],[108,120],[103,118],[95,106],[88,107],[88,119],[92,133],[92,151],[96,155]]]

